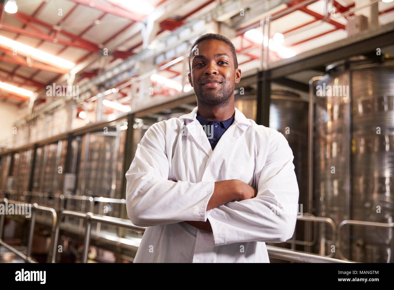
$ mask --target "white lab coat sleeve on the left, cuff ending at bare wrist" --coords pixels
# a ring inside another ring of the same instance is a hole
[[[167,123],[163,122],[154,123],[145,132],[126,172],[127,215],[137,226],[206,221],[215,182],[168,180]]]

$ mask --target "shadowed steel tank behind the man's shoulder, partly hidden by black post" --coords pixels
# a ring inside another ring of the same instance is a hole
[[[248,119],[256,120],[257,100],[255,90],[251,87],[234,94],[234,105]],[[294,155],[294,167],[299,187],[299,210],[306,211],[307,206],[307,169],[308,169],[308,102],[299,94],[289,90],[272,90],[269,106],[269,127],[276,129],[287,139]],[[302,208],[301,208],[302,205]],[[305,224],[297,223],[296,239],[305,240]],[[275,244],[278,246],[278,244]],[[289,243],[279,246],[290,247]],[[305,251],[303,247],[296,249]]]

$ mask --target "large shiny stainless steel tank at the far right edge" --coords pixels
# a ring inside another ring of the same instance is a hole
[[[394,65],[357,58],[327,68],[313,92],[314,214],[336,226],[346,219],[392,223]],[[389,228],[344,226],[341,251],[359,262],[394,262],[392,234]],[[320,241],[327,235],[321,232]]]

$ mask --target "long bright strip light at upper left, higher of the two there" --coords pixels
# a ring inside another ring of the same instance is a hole
[[[40,51],[39,49],[35,49],[28,45],[24,45],[18,41],[14,41],[7,37],[0,35],[0,45],[8,47],[11,51],[16,50],[17,52],[22,52],[22,54],[27,54],[28,56],[32,56],[32,58],[39,60],[41,62],[47,63],[50,62],[54,66],[58,67],[66,67],[71,69],[75,64],[69,62],[68,60],[63,60],[63,58],[59,58],[52,54]]]

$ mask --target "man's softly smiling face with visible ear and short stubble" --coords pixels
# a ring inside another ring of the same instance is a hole
[[[204,40],[193,47],[189,83],[204,106],[223,107],[234,94],[241,70],[234,69],[229,45],[219,40]]]

